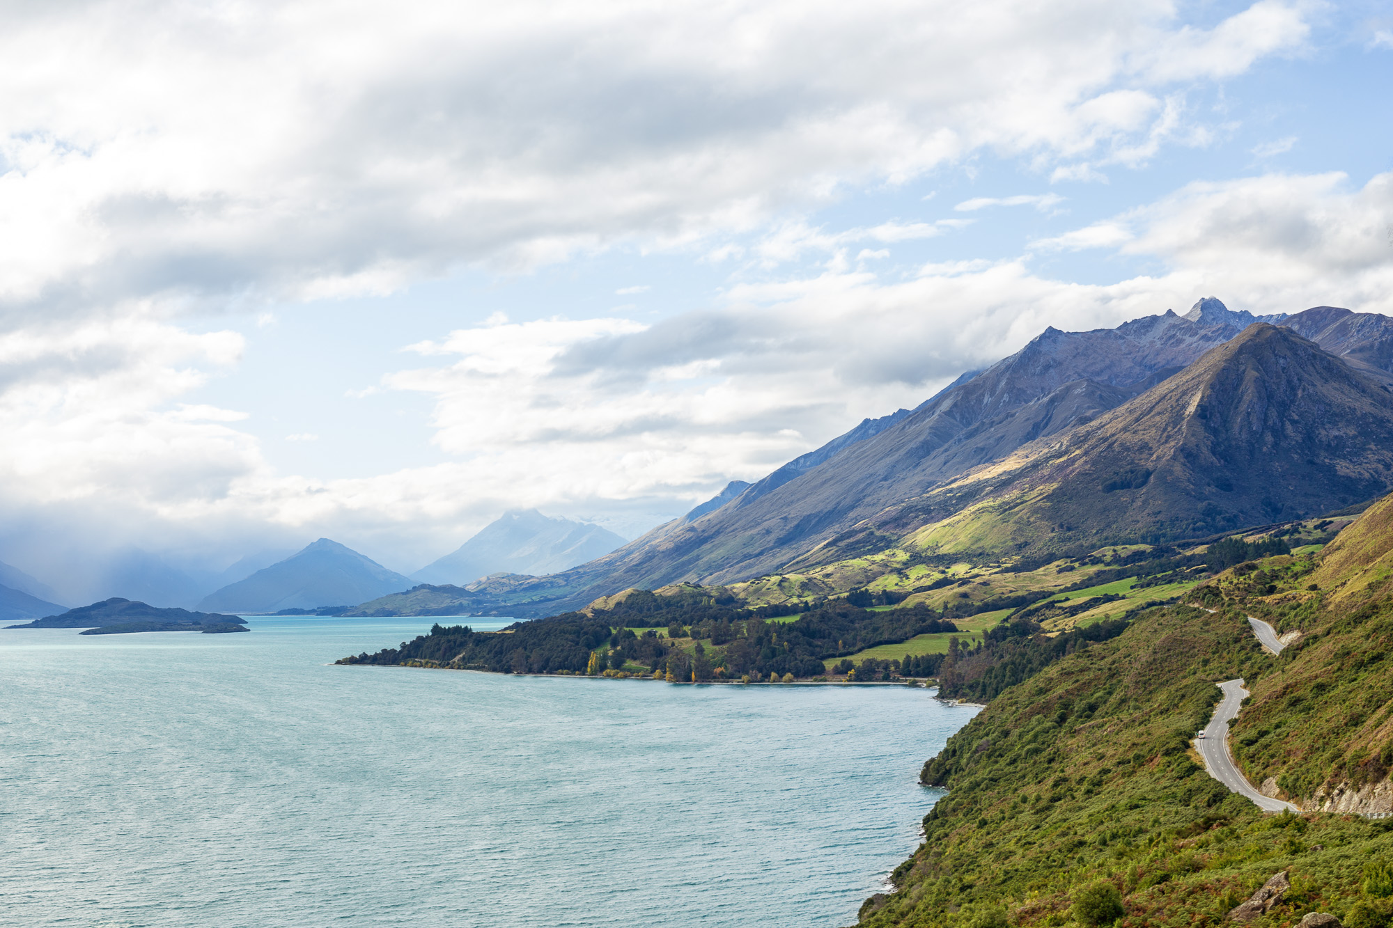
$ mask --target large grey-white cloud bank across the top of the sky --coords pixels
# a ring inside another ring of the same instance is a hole
[[[1155,142],[1155,86],[1305,29],[1270,0],[1211,31],[1165,0],[33,6],[0,36],[0,307],[383,293],[978,150],[1106,163]]]

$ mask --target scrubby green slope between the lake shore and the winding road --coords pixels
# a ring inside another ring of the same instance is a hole
[[[925,840],[866,902],[866,925],[1064,925],[1081,890],[1120,892],[1123,925],[1217,925],[1282,869],[1293,890],[1255,924],[1343,914],[1383,823],[1265,817],[1198,766],[1190,738],[1220,680],[1273,673],[1238,613],[1177,606],[1134,620],[1018,684],[922,772],[949,796]]]

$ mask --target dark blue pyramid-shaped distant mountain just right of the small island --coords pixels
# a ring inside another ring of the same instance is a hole
[[[235,613],[354,605],[411,585],[378,562],[320,538],[291,557],[203,596],[198,608]]]

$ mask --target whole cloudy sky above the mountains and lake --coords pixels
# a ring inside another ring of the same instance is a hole
[[[1393,314],[1383,3],[6,20],[0,560],[56,585],[632,538],[1046,326]]]

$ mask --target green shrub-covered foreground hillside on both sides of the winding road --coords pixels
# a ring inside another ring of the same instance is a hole
[[[925,784],[949,794],[862,924],[1094,924],[1074,904],[1106,883],[1121,925],[1219,925],[1287,871],[1291,890],[1252,924],[1330,911],[1387,925],[1393,819],[1348,812],[1390,794],[1390,552],[1393,499],[1325,559],[1240,563],[1187,595],[1204,608],[1144,612],[1007,688],[925,764]],[[1250,614],[1301,637],[1273,658]],[[1263,815],[1198,766],[1190,738],[1233,677],[1254,694],[1233,726],[1237,761],[1311,811]]]

